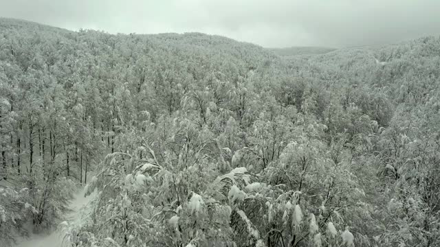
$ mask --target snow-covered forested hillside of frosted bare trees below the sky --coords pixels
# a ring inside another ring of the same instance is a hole
[[[78,183],[72,246],[439,246],[439,68],[440,37],[282,57],[0,19],[0,246]]]

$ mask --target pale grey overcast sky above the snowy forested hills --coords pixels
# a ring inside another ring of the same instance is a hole
[[[0,0],[0,16],[69,30],[203,32],[264,47],[440,35],[440,0]]]

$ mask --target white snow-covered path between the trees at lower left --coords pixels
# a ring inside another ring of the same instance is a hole
[[[77,220],[79,215],[79,209],[89,202],[91,196],[84,197],[83,189],[80,189],[71,202],[70,208],[72,212],[66,215],[65,220],[72,222]],[[16,247],[60,247],[63,242],[63,235],[59,231],[53,231],[48,235],[30,235],[28,239],[19,239]]]

